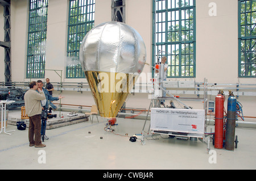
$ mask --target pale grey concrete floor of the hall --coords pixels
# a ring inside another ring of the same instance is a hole
[[[99,122],[94,117],[93,124],[86,121],[49,129],[45,148],[28,146],[28,129],[8,125],[6,131],[15,131],[0,134],[0,169],[256,169],[253,128],[236,128],[239,143],[234,151],[214,149],[211,142],[208,154],[207,145],[199,140],[161,135],[147,137],[144,145],[139,139],[129,141],[129,136],[141,133],[144,120],[118,118],[118,125],[112,127],[115,134],[104,131],[105,119],[100,117]]]

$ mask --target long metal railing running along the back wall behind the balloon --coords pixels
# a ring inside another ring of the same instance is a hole
[[[28,90],[30,82],[0,82],[0,88],[16,87]],[[56,91],[90,91],[88,82],[51,82]],[[46,82],[44,82],[44,85]],[[151,93],[152,82],[136,83],[131,93]],[[176,95],[204,95],[203,82],[195,82],[195,88],[167,88],[167,91]],[[256,96],[255,83],[208,83],[208,95],[217,95],[218,90],[224,90],[224,94],[228,95],[228,91],[232,90],[235,96]]]

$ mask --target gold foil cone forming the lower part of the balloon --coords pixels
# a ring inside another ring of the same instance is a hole
[[[114,118],[123,106],[135,79],[134,74],[85,71],[94,101],[102,117]]]

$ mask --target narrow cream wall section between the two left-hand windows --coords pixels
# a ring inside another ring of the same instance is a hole
[[[62,70],[65,80],[65,63],[67,61],[68,0],[55,0],[48,3],[47,43],[46,43],[46,77],[51,82],[60,82],[57,73]]]

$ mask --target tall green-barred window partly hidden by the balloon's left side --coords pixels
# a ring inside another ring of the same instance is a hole
[[[95,0],[69,1],[67,78],[84,78],[79,61],[80,44],[94,27]]]

